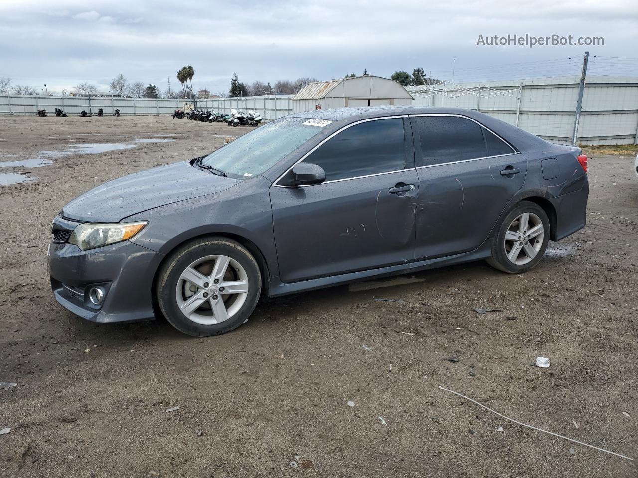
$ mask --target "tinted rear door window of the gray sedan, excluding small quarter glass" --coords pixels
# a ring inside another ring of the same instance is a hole
[[[457,116],[417,116],[412,120],[421,146],[417,166],[488,156],[483,128],[473,121]]]

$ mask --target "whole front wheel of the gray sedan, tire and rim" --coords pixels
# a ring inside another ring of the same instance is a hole
[[[262,278],[255,258],[223,237],[186,243],[163,264],[159,308],[175,328],[206,337],[231,331],[255,310]]]

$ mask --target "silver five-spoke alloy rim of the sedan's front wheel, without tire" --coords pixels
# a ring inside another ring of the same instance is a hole
[[[248,296],[248,274],[227,256],[206,256],[191,263],[177,280],[177,305],[189,320],[219,324],[237,314]]]

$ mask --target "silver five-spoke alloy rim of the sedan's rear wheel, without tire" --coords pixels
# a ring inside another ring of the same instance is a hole
[[[505,256],[522,266],[538,255],[545,235],[543,221],[533,212],[524,212],[512,221],[505,233]]]

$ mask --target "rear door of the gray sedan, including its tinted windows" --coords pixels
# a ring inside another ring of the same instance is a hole
[[[419,175],[416,259],[477,249],[523,187],[526,159],[461,115],[410,117]]]

